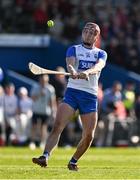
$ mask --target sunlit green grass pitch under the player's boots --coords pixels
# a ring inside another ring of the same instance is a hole
[[[41,150],[0,148],[0,179],[140,179],[140,148],[90,148],[79,160],[79,171],[67,169],[75,149],[58,148],[49,167],[31,162]]]

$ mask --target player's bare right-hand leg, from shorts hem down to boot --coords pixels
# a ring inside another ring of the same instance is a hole
[[[81,115],[81,122],[83,126],[82,138],[77,146],[77,150],[74,153],[72,159],[68,164],[70,170],[78,170],[77,161],[85,153],[85,151],[90,147],[94,133],[97,125],[97,112],[91,112],[88,114]]]

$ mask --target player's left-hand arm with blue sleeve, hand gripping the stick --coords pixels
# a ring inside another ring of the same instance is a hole
[[[75,63],[76,63],[75,47],[72,46],[68,48],[66,53],[66,65],[67,65],[67,70],[69,73],[71,73],[71,78],[73,79],[78,78],[78,73],[74,69]]]

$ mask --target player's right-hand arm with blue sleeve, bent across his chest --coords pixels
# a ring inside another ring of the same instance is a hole
[[[98,56],[97,63],[91,67],[90,69],[87,69],[79,74],[80,79],[89,79],[89,75],[97,74],[99,73],[105,66],[107,59],[107,53],[105,51],[100,51]]]

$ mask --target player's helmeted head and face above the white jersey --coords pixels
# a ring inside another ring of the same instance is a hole
[[[92,46],[98,38],[98,31],[93,24],[87,24],[82,31],[83,43]]]

